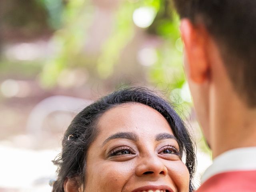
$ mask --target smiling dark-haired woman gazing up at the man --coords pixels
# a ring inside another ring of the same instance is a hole
[[[118,90],[84,108],[54,163],[53,192],[194,190],[188,130],[166,100],[145,88]]]

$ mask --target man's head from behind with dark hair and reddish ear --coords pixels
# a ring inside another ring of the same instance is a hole
[[[181,18],[185,70],[196,112],[212,144],[210,127],[223,126],[213,121],[222,115],[224,122],[228,114],[221,113],[236,110],[234,101],[248,110],[256,108],[256,1],[174,4]]]

